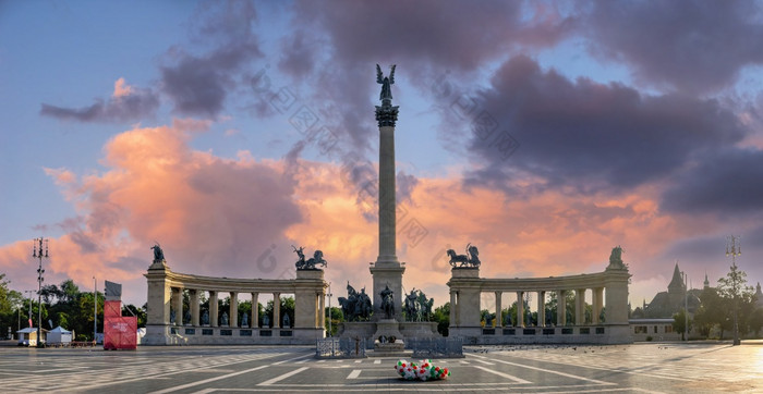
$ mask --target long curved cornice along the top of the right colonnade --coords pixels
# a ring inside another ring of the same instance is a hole
[[[548,278],[451,278],[448,286],[479,287],[481,292],[535,292],[606,287],[613,281],[628,281],[627,269],[607,269],[604,272]]]

